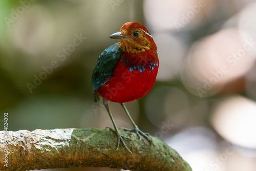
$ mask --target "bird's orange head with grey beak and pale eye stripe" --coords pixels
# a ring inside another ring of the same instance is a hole
[[[110,38],[120,39],[123,52],[142,53],[149,49],[157,51],[153,36],[139,23],[125,23],[120,31],[112,34]]]

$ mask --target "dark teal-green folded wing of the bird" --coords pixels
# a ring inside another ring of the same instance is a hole
[[[106,83],[120,58],[122,53],[119,48],[119,43],[116,43],[109,48],[106,48],[100,55],[93,71],[92,86],[93,90],[98,90],[104,83]]]

